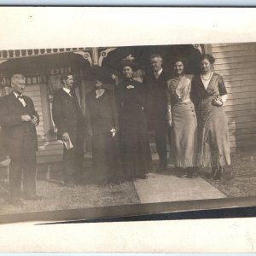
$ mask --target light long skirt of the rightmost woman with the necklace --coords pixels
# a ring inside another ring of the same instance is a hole
[[[224,108],[212,105],[212,97],[201,102],[199,111],[199,166],[230,165],[230,141]]]

